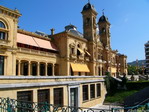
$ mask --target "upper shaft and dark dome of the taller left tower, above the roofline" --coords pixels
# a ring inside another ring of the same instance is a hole
[[[94,41],[96,37],[96,16],[97,12],[89,2],[83,7],[83,34],[89,41]]]

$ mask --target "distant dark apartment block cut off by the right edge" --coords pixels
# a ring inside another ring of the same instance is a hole
[[[149,41],[144,46],[145,46],[145,57],[146,57],[145,69],[146,73],[149,73]]]

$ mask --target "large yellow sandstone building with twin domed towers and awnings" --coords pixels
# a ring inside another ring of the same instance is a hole
[[[51,35],[24,31],[20,16],[0,6],[1,97],[93,107],[104,101],[106,72],[127,74],[127,57],[111,49],[108,19],[103,14],[96,23],[90,3],[82,10],[83,34],[74,25]]]

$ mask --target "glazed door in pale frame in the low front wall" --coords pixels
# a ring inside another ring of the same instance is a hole
[[[70,88],[70,106],[78,107],[78,88]]]

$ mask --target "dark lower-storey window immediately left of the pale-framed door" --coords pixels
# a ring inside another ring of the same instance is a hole
[[[63,106],[63,88],[54,89],[54,105]]]

